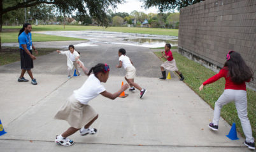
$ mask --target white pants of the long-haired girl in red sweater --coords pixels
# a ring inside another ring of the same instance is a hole
[[[238,111],[238,117],[241,121],[243,127],[243,132],[246,137],[246,142],[254,142],[252,137],[252,127],[250,125],[250,120],[247,117],[247,96],[244,90],[232,90],[225,89],[223,94],[218,98],[215,103],[213,124],[218,125],[220,120],[220,111],[222,106],[234,101],[236,105],[236,110]]]

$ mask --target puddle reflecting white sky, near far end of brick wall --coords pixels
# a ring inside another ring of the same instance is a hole
[[[178,41],[175,40],[164,40],[164,39],[124,39],[124,41],[132,42],[136,46],[143,47],[164,47],[166,43],[171,44],[171,46],[178,46]]]

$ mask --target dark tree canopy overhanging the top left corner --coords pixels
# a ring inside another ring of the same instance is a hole
[[[83,14],[88,14],[101,23],[108,26],[106,11],[109,6],[117,7],[117,4],[124,0],[0,0],[0,32],[2,31],[3,15],[17,10],[18,8],[28,8],[38,6],[39,4],[53,4],[57,11],[65,14],[71,14],[73,11],[78,11]],[[1,49],[1,37],[0,37]]]

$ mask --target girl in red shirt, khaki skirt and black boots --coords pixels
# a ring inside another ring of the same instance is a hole
[[[162,77],[160,77],[160,80],[166,80],[166,71],[164,70],[167,69],[169,71],[175,71],[180,75],[180,80],[184,80],[184,77],[181,72],[178,71],[178,67],[176,66],[176,61],[173,58],[173,53],[171,53],[171,44],[167,43],[166,46],[164,46],[164,51],[161,51],[162,56],[159,58],[165,58],[167,61],[162,63],[160,66],[161,72],[162,72]]]

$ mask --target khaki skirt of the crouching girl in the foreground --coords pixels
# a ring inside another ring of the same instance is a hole
[[[71,127],[76,129],[82,128],[97,116],[96,111],[89,106],[83,105],[72,95],[66,103],[56,113],[55,117],[59,120],[66,120]]]

